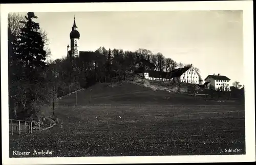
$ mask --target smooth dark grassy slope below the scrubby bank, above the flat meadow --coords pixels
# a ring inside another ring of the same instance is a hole
[[[151,88],[136,84],[123,83],[116,87],[110,84],[96,84],[89,89],[77,92],[77,105],[88,104],[220,104],[206,101],[204,98],[192,97],[181,93],[169,93],[165,90],[153,91]],[[89,98],[91,95],[91,102]],[[74,105],[76,94],[64,97],[58,101],[59,105]],[[225,103],[222,103],[225,104]],[[230,103],[226,103],[230,104]],[[236,103],[232,103],[236,104]],[[241,104],[241,103],[238,103]]]

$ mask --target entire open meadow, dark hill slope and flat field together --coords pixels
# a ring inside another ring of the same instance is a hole
[[[244,108],[135,84],[97,84],[58,99],[53,128],[10,135],[10,156],[35,149],[53,152],[28,157],[245,154]],[[241,150],[221,153],[229,148]]]

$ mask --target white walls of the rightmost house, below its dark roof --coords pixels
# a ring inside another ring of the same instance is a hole
[[[230,80],[224,80],[224,79],[216,79],[214,77],[208,76],[205,79],[205,82],[210,82],[207,85],[208,89],[214,89],[214,90],[218,90],[221,89],[224,91],[230,91]]]

